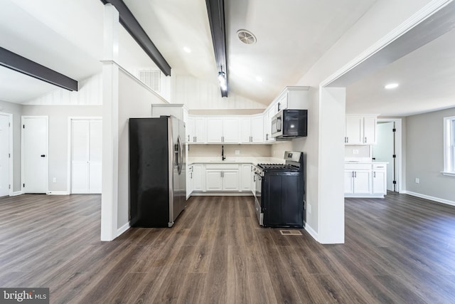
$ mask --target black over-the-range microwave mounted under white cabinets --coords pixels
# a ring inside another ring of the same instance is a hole
[[[308,110],[281,110],[272,117],[272,137],[291,140],[307,135]]]

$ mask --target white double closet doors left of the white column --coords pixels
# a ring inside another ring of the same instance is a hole
[[[71,193],[101,193],[102,120],[71,120]]]

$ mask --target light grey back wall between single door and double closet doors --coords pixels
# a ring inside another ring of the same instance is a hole
[[[48,191],[70,193],[68,189],[68,118],[101,117],[101,105],[23,105],[21,115],[48,116]],[[20,120],[19,120],[20,124]],[[20,125],[19,125],[20,129]],[[20,132],[20,130],[19,130]],[[20,159],[20,152],[19,152]],[[20,174],[19,174],[20,176]],[[57,182],[53,182],[53,178]]]

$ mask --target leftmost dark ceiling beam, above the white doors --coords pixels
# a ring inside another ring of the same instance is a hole
[[[6,48],[1,47],[0,65],[4,66],[5,68],[11,68],[11,70],[16,70],[19,73],[26,74],[33,78],[43,80],[46,83],[57,85],[60,88],[77,91],[76,80],[55,72],[55,70],[46,68],[44,65],[36,63],[35,61],[31,61],[16,53],[6,50]]]

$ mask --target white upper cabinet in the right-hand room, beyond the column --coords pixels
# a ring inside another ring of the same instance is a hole
[[[346,145],[374,145],[376,143],[376,116],[346,116]]]

